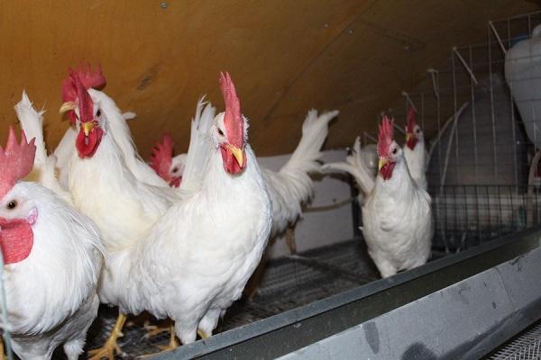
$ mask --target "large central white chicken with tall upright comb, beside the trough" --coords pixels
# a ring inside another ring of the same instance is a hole
[[[241,296],[271,232],[271,197],[247,143],[248,123],[229,75],[220,82],[225,113],[206,132],[203,146],[210,148],[202,151],[208,157],[199,189],[175,203],[147,238],[113,254],[108,274],[115,276],[103,278],[102,292],[111,292],[121,311],[170,317],[183,344],[197,331],[212,334]]]

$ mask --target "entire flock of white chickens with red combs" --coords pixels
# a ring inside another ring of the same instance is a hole
[[[384,117],[377,148],[356,139],[344,163],[326,165],[321,148],[338,111],[310,110],[298,147],[275,172],[259,166],[225,73],[225,111],[202,97],[188,153],[173,156],[166,134],[147,163],[127,124],[134,115],[120,111],[105,84],[99,67],[69,69],[60,112],[71,126],[52,152],[43,112],[23,92],[15,106],[21,140],[10,128],[0,147],[0,247],[17,356],[49,359],[62,346],[77,359],[99,303],[118,307],[119,316],[104,346],[89,353],[95,359],[122,353],[117,338],[126,317],[142,311],[172,321],[167,349],[179,346],[177,338],[189,344],[212,336],[269,240],[298,220],[314,173],[355,178],[363,238],[382,277],[428,260],[426,149],[413,109],[404,148]]]

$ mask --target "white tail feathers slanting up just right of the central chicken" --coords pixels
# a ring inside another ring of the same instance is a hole
[[[302,202],[313,193],[313,181],[309,173],[321,171],[317,162],[322,156],[321,147],[328,134],[328,124],[338,111],[324,112],[317,116],[312,109],[302,125],[302,137],[289,161],[278,173],[264,170],[263,176],[273,201],[273,233],[280,233],[289,223],[297,220]]]

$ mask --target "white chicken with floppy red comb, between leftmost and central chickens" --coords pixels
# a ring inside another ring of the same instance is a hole
[[[78,128],[74,143],[77,151],[73,151],[68,166],[69,191],[78,210],[96,221],[107,252],[113,254],[133,247],[170,208],[170,196],[164,193],[170,188],[142,182],[128,169],[114,138],[116,128],[110,121],[118,114],[122,117],[122,113],[117,112],[115,103],[103,92],[83,84],[84,75],[80,70],[70,71],[62,86],[63,99],[67,102],[61,110],[69,111]],[[103,76],[100,73],[95,77]],[[105,267],[102,273],[120,276],[110,274],[111,271],[114,269]],[[101,290],[99,294],[101,300]],[[124,320],[121,314],[105,347],[91,355],[113,358],[115,351],[120,351],[116,338],[122,335]]]

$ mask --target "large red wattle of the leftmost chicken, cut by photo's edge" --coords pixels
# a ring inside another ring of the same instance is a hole
[[[26,220],[0,218],[0,247],[4,264],[15,264],[30,255],[33,246],[32,226]]]

